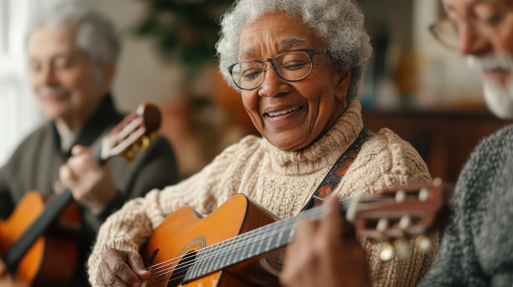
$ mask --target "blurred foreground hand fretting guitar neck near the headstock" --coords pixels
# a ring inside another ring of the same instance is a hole
[[[365,251],[352,225],[340,216],[336,197],[327,204],[325,218],[299,223],[297,235],[286,249],[280,275],[283,286],[371,286]]]

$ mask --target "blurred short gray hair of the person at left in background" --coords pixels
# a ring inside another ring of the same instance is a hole
[[[38,6],[38,5],[36,5]],[[120,39],[110,20],[91,4],[82,0],[59,0],[38,6],[29,17],[26,43],[42,26],[58,28],[65,24],[75,27],[76,43],[89,57],[96,78],[102,77],[106,64],[120,54]]]

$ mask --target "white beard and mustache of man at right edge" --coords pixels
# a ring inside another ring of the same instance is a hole
[[[467,64],[480,72],[500,68],[513,73],[513,59],[509,55],[467,56]],[[511,83],[509,87],[504,88],[499,80],[483,79],[486,105],[492,113],[502,119],[513,119],[513,80]]]

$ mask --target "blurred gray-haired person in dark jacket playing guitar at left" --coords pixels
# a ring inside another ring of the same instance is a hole
[[[65,0],[46,8],[30,17],[27,58],[31,86],[51,120],[0,169],[0,218],[9,217],[29,190],[51,196],[55,182],[67,186],[82,216],[71,285],[87,285],[84,262],[102,222],[126,200],[175,183],[177,166],[162,137],[130,163],[112,158],[101,166],[93,159],[93,148],[124,117],[109,92],[119,39],[109,20],[84,2]]]

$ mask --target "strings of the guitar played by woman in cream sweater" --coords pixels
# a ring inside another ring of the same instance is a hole
[[[378,196],[367,196],[367,197],[369,197],[370,199],[373,199],[374,201],[376,201],[376,200],[377,200],[376,198],[377,198]],[[379,197],[383,197],[383,196],[379,196]],[[365,198],[364,198],[364,199],[365,199]],[[370,204],[370,203],[362,203],[362,204],[366,204],[366,205],[368,205],[368,204]],[[343,206],[342,206],[342,207],[343,207],[343,208],[345,208],[345,207],[346,207],[346,206],[348,206],[348,205],[350,205],[350,202],[345,201],[345,202],[343,203]],[[285,219],[285,220],[280,220],[280,221],[277,221],[277,222],[287,222],[286,224],[285,224],[285,223],[284,223],[284,224],[282,224],[282,226],[280,227],[280,229],[282,229],[282,230],[283,230],[283,229],[285,229],[285,228],[290,227],[291,225],[293,226],[293,224],[297,223],[297,221],[298,221],[299,219],[302,219],[303,217],[307,217],[307,216],[309,216],[309,217],[315,217],[315,216],[318,216],[318,215],[320,215],[320,214],[322,214],[322,213],[325,213],[325,210],[326,210],[326,208],[324,208],[324,207],[323,207],[323,208],[319,208],[319,209],[313,209],[311,212],[304,212],[304,213],[302,213],[302,214],[300,214],[300,215],[298,215],[298,216],[289,217],[289,218],[287,218],[287,219]],[[297,219],[297,220],[293,220],[293,219]],[[290,223],[292,223],[292,224],[290,224]],[[244,234],[242,234],[242,235],[253,235],[253,234],[257,234],[256,236],[254,236],[254,238],[252,238],[252,240],[253,240],[253,241],[258,241],[258,240],[262,241],[262,240],[261,240],[262,238],[270,238],[270,237],[269,237],[269,233],[268,233],[268,230],[269,230],[270,228],[272,228],[272,229],[273,229],[272,231],[274,231],[275,229],[277,229],[277,228],[278,228],[278,226],[279,226],[279,225],[280,225],[280,224],[268,224],[268,225],[266,225],[266,226],[264,226],[264,227],[262,227],[262,228],[252,230],[252,231],[247,232],[247,233],[244,233]],[[260,235],[259,235],[259,233],[262,233],[262,234],[260,234]],[[220,248],[220,250],[216,251],[214,254],[211,254],[211,255],[206,256],[206,257],[201,257],[200,259],[198,259],[198,260],[196,260],[196,261],[194,261],[194,262],[189,263],[189,261],[186,261],[186,262],[184,262],[184,263],[179,263],[179,264],[175,265],[175,266],[174,266],[174,268],[173,268],[173,267],[170,267],[170,266],[171,266],[171,265],[173,265],[173,263],[175,263],[176,261],[184,260],[184,259],[187,259],[187,258],[190,258],[190,257],[194,256],[194,255],[190,255],[190,256],[186,256],[186,257],[182,257],[182,258],[173,258],[173,259],[170,259],[170,260],[167,260],[167,261],[163,261],[163,262],[161,262],[161,263],[159,263],[159,264],[155,264],[155,265],[153,265],[153,266],[157,266],[157,265],[161,265],[161,264],[164,264],[164,263],[169,262],[168,264],[165,264],[165,265],[163,265],[163,266],[161,266],[161,267],[159,267],[159,268],[155,269],[155,270],[158,270],[158,269],[165,269],[165,270],[161,270],[161,271],[159,271],[159,272],[157,272],[157,273],[153,273],[153,274],[152,274],[152,275],[153,275],[153,276],[152,276],[152,278],[157,278],[157,277],[162,276],[162,275],[167,275],[167,274],[169,274],[169,273],[171,273],[171,272],[174,272],[174,273],[173,273],[173,275],[174,275],[174,274],[176,274],[176,273],[177,273],[177,272],[176,272],[176,270],[184,269],[184,268],[186,268],[186,267],[188,267],[188,266],[190,266],[190,265],[192,265],[192,264],[196,264],[196,263],[199,263],[199,262],[202,262],[202,261],[206,261],[206,260],[208,260],[208,259],[210,259],[210,258],[212,258],[212,257],[214,257],[214,256],[219,256],[218,261],[219,261],[219,260],[221,260],[221,259],[224,259],[224,258],[226,258],[226,254],[228,254],[228,253],[229,253],[229,254],[232,254],[234,251],[238,252],[242,247],[247,247],[246,242],[242,241],[242,238],[243,238],[243,237],[247,237],[247,236],[242,236],[242,235],[237,236],[237,237],[233,237],[233,238],[230,238],[230,239],[227,239],[227,240],[222,241],[222,242],[218,242],[218,243],[216,243],[216,244],[214,244],[214,245],[211,245],[210,247],[207,247],[207,248],[204,248],[204,249],[199,250],[199,252],[201,252],[201,251],[206,252],[206,251],[210,251],[210,249],[212,249],[213,247],[215,247],[215,248]],[[271,236],[272,236],[272,232],[271,232]],[[228,242],[228,241],[233,241],[233,239],[238,239],[238,241],[237,241],[237,242],[234,242],[235,244],[228,244],[228,245],[225,245],[224,247],[222,247],[222,246],[221,246],[221,245],[222,245],[222,243],[230,243],[230,242]],[[254,243],[253,243],[253,244],[254,244]],[[219,246],[218,246],[218,245],[219,245]],[[259,248],[260,248],[260,246],[259,246]],[[249,258],[251,258],[251,257],[249,257]],[[246,258],[246,259],[249,259],[249,258]],[[241,258],[241,260],[243,260],[243,258]],[[187,264],[187,265],[183,265],[183,264]],[[181,265],[182,265],[182,266],[181,266]],[[167,268],[167,267],[169,267],[169,268]],[[150,267],[150,268],[151,268],[151,267]],[[169,271],[170,269],[173,269],[173,270],[172,270],[172,271]],[[188,269],[187,269],[187,270],[185,270],[185,272],[187,272],[187,271],[188,271]],[[183,271],[180,271],[180,272],[183,272]],[[173,278],[171,278],[170,280],[174,280],[175,278],[176,278],[176,277],[173,277]],[[150,279],[148,279],[148,280],[150,280]],[[158,280],[160,280],[160,279],[158,279]],[[154,280],[153,280],[153,281],[154,281]],[[148,281],[148,283],[151,283],[151,282],[153,282],[153,281]]]

